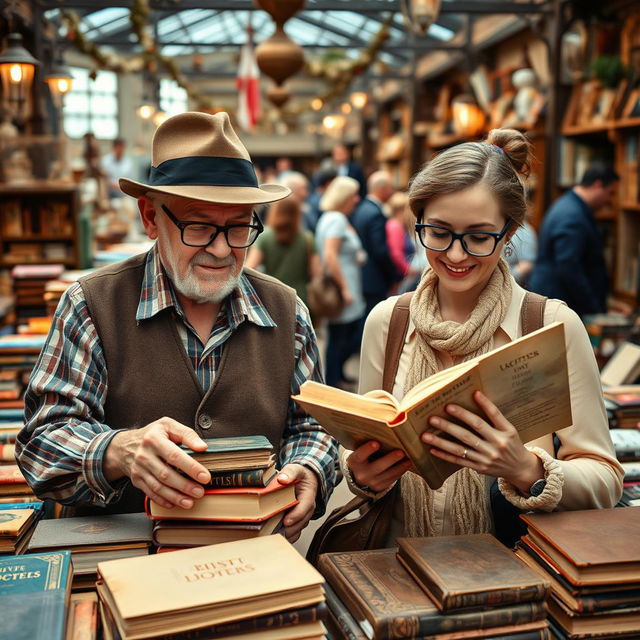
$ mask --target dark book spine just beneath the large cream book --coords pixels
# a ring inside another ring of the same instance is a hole
[[[245,618],[237,622],[214,624],[201,629],[181,631],[164,636],[153,636],[155,640],[214,640],[215,638],[235,636],[237,634],[282,629],[292,625],[317,622],[327,617],[327,605],[324,602],[302,609],[289,609],[258,618]]]

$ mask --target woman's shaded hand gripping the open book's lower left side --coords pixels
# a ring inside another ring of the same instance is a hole
[[[394,449],[380,458],[370,460],[379,449],[380,443],[369,440],[347,458],[347,466],[356,482],[374,493],[388,489],[411,466],[402,449]]]

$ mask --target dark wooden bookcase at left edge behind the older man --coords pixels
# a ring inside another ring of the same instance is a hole
[[[0,184],[0,267],[59,263],[83,266],[75,185]]]

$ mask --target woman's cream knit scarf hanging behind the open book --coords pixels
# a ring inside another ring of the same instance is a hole
[[[476,306],[464,324],[443,321],[438,304],[438,278],[427,269],[411,300],[410,314],[417,332],[405,393],[418,382],[441,369],[435,351],[448,353],[464,362],[493,348],[493,336],[504,320],[511,302],[509,267],[500,260]],[[437,535],[434,527],[434,494],[447,491],[447,508],[454,534],[486,533],[492,529],[488,493],[483,476],[463,467],[447,478],[436,491],[414,473],[401,480],[405,535]]]

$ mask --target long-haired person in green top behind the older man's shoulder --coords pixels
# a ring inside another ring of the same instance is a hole
[[[271,205],[267,228],[249,249],[246,266],[288,284],[307,304],[307,283],[320,271],[313,234],[302,230],[300,201],[293,196]]]

